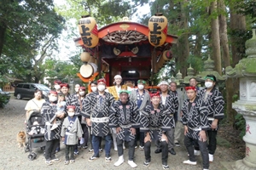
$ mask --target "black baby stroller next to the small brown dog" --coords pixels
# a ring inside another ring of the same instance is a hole
[[[37,157],[37,154],[32,152],[32,148],[41,148],[41,150],[44,150],[46,144],[44,133],[44,117],[39,111],[33,111],[26,123],[28,143],[26,144],[25,152],[30,152],[28,155],[29,160],[32,161]]]

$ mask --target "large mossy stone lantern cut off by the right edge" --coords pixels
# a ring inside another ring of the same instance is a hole
[[[241,59],[236,67],[226,68],[227,77],[240,78],[240,99],[233,103],[232,108],[246,120],[246,157],[236,161],[234,169],[256,169],[256,36],[246,42],[247,58]]]

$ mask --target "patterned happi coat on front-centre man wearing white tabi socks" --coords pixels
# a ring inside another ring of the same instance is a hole
[[[130,128],[140,127],[140,115],[137,105],[133,101],[128,100],[126,104],[122,104],[120,100],[113,102],[109,118],[109,127],[121,127],[121,131],[117,133],[117,138],[125,141],[135,139],[135,135],[131,134]]]

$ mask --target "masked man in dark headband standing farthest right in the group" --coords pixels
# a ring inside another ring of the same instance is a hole
[[[218,122],[224,118],[224,98],[215,87],[215,84],[216,77],[213,75],[207,75],[207,77],[205,77],[206,88],[202,89],[199,94],[200,98],[207,106],[207,119],[211,128],[210,130],[207,130],[207,136],[209,139],[209,161],[213,161],[213,155],[216,150]]]

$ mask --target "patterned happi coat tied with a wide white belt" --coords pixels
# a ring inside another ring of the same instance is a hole
[[[95,136],[106,136],[110,134],[108,122],[93,122],[93,118],[109,119],[110,106],[114,101],[113,95],[104,92],[101,96],[98,92],[87,94],[83,100],[82,116],[91,118],[91,134]]]

